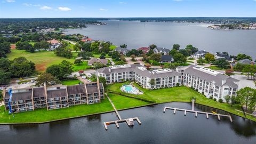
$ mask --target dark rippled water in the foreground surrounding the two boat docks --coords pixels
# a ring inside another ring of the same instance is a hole
[[[41,125],[0,125],[0,143],[255,143],[256,122],[231,115],[229,118],[166,110],[164,106],[191,109],[191,103],[164,103],[155,106],[119,111],[123,118],[139,117],[141,125],[125,123],[109,125],[116,120],[115,113],[69,119]],[[195,110],[223,111],[195,105]]]

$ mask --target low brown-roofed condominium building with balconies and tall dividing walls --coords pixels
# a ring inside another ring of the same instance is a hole
[[[8,110],[10,95],[6,90],[3,91],[3,95],[5,109]],[[11,107],[13,113],[37,108],[51,110],[99,103],[104,98],[104,87],[99,81],[71,86],[31,87],[12,90]]]

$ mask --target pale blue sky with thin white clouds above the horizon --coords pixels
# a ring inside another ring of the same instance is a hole
[[[0,18],[256,17],[256,0],[0,0]]]

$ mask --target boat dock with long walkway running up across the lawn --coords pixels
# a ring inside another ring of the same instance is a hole
[[[126,118],[126,119],[122,119],[121,116],[119,115],[114,103],[111,101],[111,99],[108,97],[108,94],[105,93],[107,95],[108,100],[110,101],[112,107],[115,110],[116,116],[118,117],[119,120],[116,121],[109,121],[109,122],[104,122],[103,125],[105,127],[105,130],[108,130],[108,126],[110,124],[115,124],[117,129],[119,128],[119,124],[118,123],[126,123],[128,126],[133,126],[134,123],[133,121],[137,121],[139,124],[141,124],[140,119],[138,117],[133,117],[133,118]]]

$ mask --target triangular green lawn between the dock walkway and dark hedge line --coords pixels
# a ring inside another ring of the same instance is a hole
[[[124,97],[117,94],[109,93],[108,95],[117,109],[132,108],[150,104],[149,102]]]

